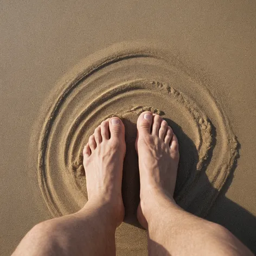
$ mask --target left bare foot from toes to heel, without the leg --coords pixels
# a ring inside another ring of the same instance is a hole
[[[103,121],[84,148],[84,168],[88,202],[104,204],[117,226],[124,219],[121,181],[125,156],[123,122],[113,117]]]

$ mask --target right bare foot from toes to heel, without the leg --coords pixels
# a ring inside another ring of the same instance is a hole
[[[136,150],[139,157],[140,203],[137,217],[148,227],[146,215],[161,197],[173,200],[178,161],[178,140],[167,121],[146,111],[137,121]],[[174,200],[173,200],[174,201]]]

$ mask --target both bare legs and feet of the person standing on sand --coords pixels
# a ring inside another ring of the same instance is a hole
[[[173,199],[178,140],[151,112],[137,121],[140,203],[149,255],[253,255],[226,228],[185,212]],[[115,255],[114,234],[124,218],[121,180],[125,156],[122,121],[103,121],[84,148],[88,202],[79,212],[39,223],[12,255]]]

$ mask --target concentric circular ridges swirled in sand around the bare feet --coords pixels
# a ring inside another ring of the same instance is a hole
[[[160,114],[178,137],[181,160],[175,199],[189,212],[199,216],[208,212],[235,161],[235,136],[207,84],[157,48],[120,44],[94,54],[59,82],[49,102],[39,141],[38,174],[53,216],[73,213],[87,201],[81,152],[95,127],[113,115],[122,118],[126,128],[126,223],[138,225],[134,142],[142,111]],[[119,239],[125,236],[122,226],[118,232]],[[140,250],[138,241],[144,236],[137,229],[132,232]],[[126,248],[123,240],[117,239],[118,249]]]

